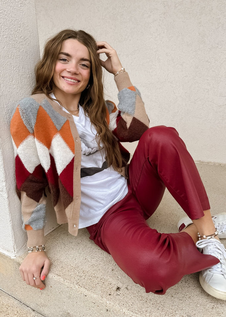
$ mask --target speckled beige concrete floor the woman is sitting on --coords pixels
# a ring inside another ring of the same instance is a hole
[[[197,166],[210,198],[212,213],[225,212],[226,166]],[[166,192],[148,222],[161,232],[177,232],[176,225],[181,217],[184,217],[183,210]],[[222,242],[226,245],[226,239]],[[74,237],[68,233],[66,224],[61,225],[47,235],[46,244],[52,266],[42,291],[27,286],[20,278],[18,269],[26,255],[10,259],[0,254],[0,288],[37,312],[37,316],[206,317],[222,314],[225,309],[225,301],[204,292],[198,282],[198,273],[184,276],[166,295],[146,294],[118,268],[109,254],[89,240],[86,229],[79,230],[78,236]],[[5,301],[5,296],[1,301]],[[1,304],[1,307],[4,309],[6,305]],[[7,311],[5,308],[0,316],[7,316]],[[34,314],[34,311],[31,312]]]

